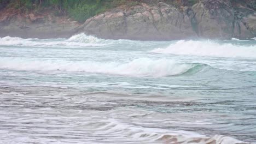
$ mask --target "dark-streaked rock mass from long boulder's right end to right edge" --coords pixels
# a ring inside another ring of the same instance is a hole
[[[201,38],[252,38],[255,17],[251,10],[234,9],[228,0],[201,0],[193,5],[197,34]],[[253,22],[254,21],[254,22]]]

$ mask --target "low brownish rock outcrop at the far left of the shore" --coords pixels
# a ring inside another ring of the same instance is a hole
[[[67,17],[48,13],[21,15],[15,9],[8,9],[0,15],[0,37],[68,38],[78,32],[80,25]]]

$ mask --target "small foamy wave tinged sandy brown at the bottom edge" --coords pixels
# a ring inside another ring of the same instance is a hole
[[[184,130],[164,130],[160,128],[140,128],[135,125],[117,122],[114,119],[101,122],[100,127],[98,122],[89,122],[84,126],[95,128],[96,133],[100,134],[115,134],[122,132],[123,139],[129,138],[133,142],[141,143],[219,143],[219,144],[247,144],[246,142],[236,140],[233,137],[224,135],[214,135],[207,137],[197,134],[192,131]],[[118,137],[120,138],[120,137]]]

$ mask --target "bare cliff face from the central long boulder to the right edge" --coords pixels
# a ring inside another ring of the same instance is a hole
[[[247,7],[234,9],[222,0],[202,0],[182,10],[164,2],[142,3],[92,17],[82,29],[108,39],[247,39],[256,37],[256,13]]]

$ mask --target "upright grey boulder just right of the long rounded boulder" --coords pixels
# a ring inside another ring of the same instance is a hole
[[[192,7],[197,21],[197,34],[202,38],[232,37],[235,11],[225,1],[204,0]]]

